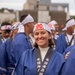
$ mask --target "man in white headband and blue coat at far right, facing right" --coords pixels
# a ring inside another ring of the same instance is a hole
[[[74,19],[69,19],[66,22],[66,26],[63,30],[65,33],[61,34],[56,41],[56,50],[60,53],[64,53],[65,49],[70,45],[74,45],[73,32],[75,28]]]

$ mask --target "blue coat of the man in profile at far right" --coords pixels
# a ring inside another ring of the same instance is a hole
[[[65,39],[65,34],[61,34],[56,40],[56,50],[63,54],[67,48],[67,43]]]

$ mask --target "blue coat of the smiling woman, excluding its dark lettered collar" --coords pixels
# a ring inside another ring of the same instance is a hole
[[[54,51],[49,61],[45,75],[60,75],[60,69],[64,63],[63,55]],[[14,75],[37,75],[36,74],[36,55],[34,50],[27,50],[22,54],[17,63]]]

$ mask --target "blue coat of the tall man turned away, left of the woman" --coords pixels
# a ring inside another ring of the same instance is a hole
[[[31,49],[32,45],[26,35],[24,33],[19,33],[15,36],[13,40],[13,55],[16,60],[16,63],[18,62],[21,54],[27,50]]]

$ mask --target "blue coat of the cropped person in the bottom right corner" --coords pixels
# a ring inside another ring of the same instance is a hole
[[[75,75],[75,45],[70,50],[70,54],[62,68],[61,75]]]

